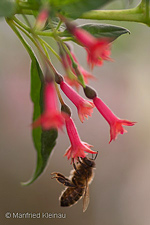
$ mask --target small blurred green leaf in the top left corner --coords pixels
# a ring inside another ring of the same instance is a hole
[[[0,17],[11,17],[15,11],[15,3],[10,0],[0,0]]]

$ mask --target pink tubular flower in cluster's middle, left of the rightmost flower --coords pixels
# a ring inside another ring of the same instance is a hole
[[[62,81],[60,87],[65,95],[72,101],[72,103],[77,107],[78,115],[83,123],[84,117],[88,118],[91,116],[94,108],[94,104],[84,98],[82,98],[72,87],[70,87],[66,82]]]

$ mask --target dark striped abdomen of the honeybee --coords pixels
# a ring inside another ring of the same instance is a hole
[[[67,207],[74,205],[84,193],[84,188],[67,188],[60,196],[60,205]]]

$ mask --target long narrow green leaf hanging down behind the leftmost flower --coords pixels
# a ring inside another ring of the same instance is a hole
[[[34,104],[33,121],[43,112],[44,79],[39,63],[34,54],[31,54],[31,99]],[[44,131],[40,127],[32,130],[32,137],[37,151],[36,170],[31,180],[23,185],[33,183],[44,171],[49,156],[56,144],[57,130]]]

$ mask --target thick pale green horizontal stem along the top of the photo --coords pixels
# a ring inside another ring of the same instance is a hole
[[[26,6],[26,3],[22,3],[19,4],[19,7],[16,9],[16,14],[23,13],[26,15],[33,15],[33,10],[37,11],[38,7],[34,9],[32,8],[31,10],[30,5]],[[150,26],[149,10],[149,0],[143,0],[137,7],[132,9],[91,10],[89,12],[83,13],[80,16],[80,19],[138,22]],[[45,32],[44,35],[47,35],[47,32]]]

